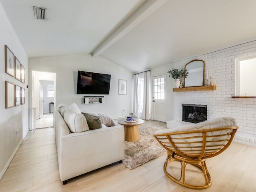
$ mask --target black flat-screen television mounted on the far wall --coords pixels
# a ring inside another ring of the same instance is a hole
[[[109,94],[109,74],[78,71],[76,94]]]

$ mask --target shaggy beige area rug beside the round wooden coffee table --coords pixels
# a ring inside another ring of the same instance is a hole
[[[153,136],[156,130],[160,130],[159,128],[140,125],[139,130],[140,140],[125,141],[125,155],[122,163],[129,169],[134,169],[166,152]]]

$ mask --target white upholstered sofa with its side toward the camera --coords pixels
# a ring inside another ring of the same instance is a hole
[[[83,114],[75,112],[70,115],[64,112],[63,117],[60,113],[62,111],[59,111],[58,107],[54,112],[54,124],[60,180],[63,184],[66,184],[70,178],[124,159],[123,126],[102,125],[102,128],[92,130],[78,129],[77,124],[87,125],[82,118]],[[74,116],[75,119],[73,119]],[[79,132],[69,128],[69,126],[72,127],[70,121],[74,122],[73,127]]]

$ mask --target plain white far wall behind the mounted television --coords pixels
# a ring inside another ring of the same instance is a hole
[[[133,74],[105,58],[92,57],[90,54],[30,58],[29,68],[56,72],[56,106],[74,102],[81,111],[102,112],[113,118],[127,116],[132,112]],[[104,95],[105,103],[82,104],[84,95],[76,94],[78,70],[111,74],[110,94]],[[118,79],[127,80],[127,95],[118,94]]]

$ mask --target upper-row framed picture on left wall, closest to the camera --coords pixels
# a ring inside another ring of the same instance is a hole
[[[4,53],[5,53],[5,72],[10,76],[14,77],[14,54],[8,48],[7,45],[4,45]]]

